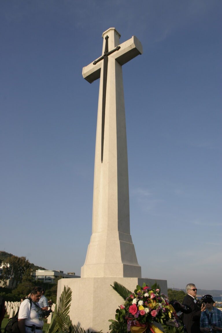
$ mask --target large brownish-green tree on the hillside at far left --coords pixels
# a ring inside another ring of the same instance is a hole
[[[12,255],[3,261],[3,272],[1,280],[6,285],[11,280],[11,288],[16,288],[22,282],[23,274],[30,268],[30,262],[26,257]]]

